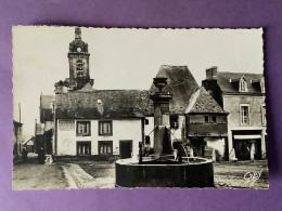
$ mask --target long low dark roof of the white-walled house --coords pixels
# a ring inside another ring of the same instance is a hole
[[[152,115],[153,108],[148,90],[75,91],[57,94],[55,102],[56,118],[140,118]]]

